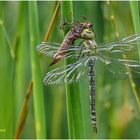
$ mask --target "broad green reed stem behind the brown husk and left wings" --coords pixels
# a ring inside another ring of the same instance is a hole
[[[73,3],[72,1],[61,2],[61,17],[69,22],[73,21]],[[68,30],[64,30],[64,34]],[[66,62],[68,64],[69,62]],[[66,85],[66,103],[68,117],[69,138],[84,138],[83,116],[78,84]]]

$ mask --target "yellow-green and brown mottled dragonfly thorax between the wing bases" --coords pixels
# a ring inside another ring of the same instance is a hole
[[[87,56],[95,56],[96,55],[96,47],[97,44],[94,40],[85,40],[82,43],[83,53]]]

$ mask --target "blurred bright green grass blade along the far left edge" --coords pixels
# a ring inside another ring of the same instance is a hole
[[[0,3],[0,139],[12,138],[14,122],[13,110],[13,66],[8,46],[7,37],[4,33],[4,3]]]

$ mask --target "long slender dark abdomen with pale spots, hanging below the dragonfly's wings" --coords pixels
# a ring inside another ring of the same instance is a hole
[[[97,133],[96,126],[96,105],[95,105],[95,80],[94,80],[94,60],[89,61],[89,83],[90,83],[90,112],[91,112],[91,122],[92,126]]]

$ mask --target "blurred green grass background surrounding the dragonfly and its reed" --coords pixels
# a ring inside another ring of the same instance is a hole
[[[56,66],[48,68],[51,59],[35,52],[36,45],[43,41],[48,30],[56,4],[55,1],[0,2],[0,138],[15,137],[19,114],[31,79],[34,88],[20,138],[69,138],[65,88],[43,86],[44,74]],[[136,3],[136,7],[138,5]],[[64,37],[58,25],[61,19],[60,8],[49,36],[50,42],[61,43]],[[136,10],[135,7],[132,9]],[[82,21],[84,15],[93,23],[97,43],[116,39],[116,31],[119,37],[125,37],[139,30],[133,21],[135,16],[136,20],[139,19],[139,15],[132,15],[132,9],[127,1],[114,1],[110,4],[101,1],[73,2],[74,18]],[[115,17],[113,21],[111,15]],[[98,133],[92,133],[89,107],[82,99],[88,110],[82,110],[83,114],[89,116],[84,124],[83,138],[140,138],[140,106],[129,79],[108,83],[106,79],[109,75],[104,74],[103,67],[97,67],[96,71]],[[139,82],[139,79],[134,81],[137,96],[140,96]],[[80,83],[80,94],[86,100],[89,95],[87,83],[88,79]],[[40,113],[35,113],[37,111]],[[35,119],[40,117],[41,126],[38,125],[38,119]]]

